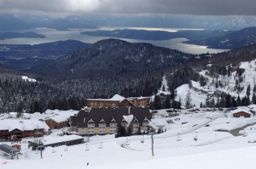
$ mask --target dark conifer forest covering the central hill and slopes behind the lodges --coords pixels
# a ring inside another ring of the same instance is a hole
[[[1,69],[0,111],[17,111],[19,107],[27,112],[79,110],[88,98],[110,98],[114,94],[152,96],[161,88],[163,75],[170,90],[167,101],[171,104],[167,106],[177,108],[173,101],[175,89],[190,80],[199,81],[202,86],[207,84],[199,76],[207,64],[216,65],[211,68],[212,74],[225,73],[227,65],[251,61],[256,58],[255,53],[256,45],[219,54],[193,55],[145,43],[101,40],[26,72]],[[19,75],[39,81],[24,81]],[[151,105],[152,109],[166,108],[163,100]]]

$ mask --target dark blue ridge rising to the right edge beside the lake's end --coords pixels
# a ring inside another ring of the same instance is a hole
[[[234,49],[253,45],[256,44],[256,27],[243,28],[239,31],[203,40],[189,40],[185,43],[205,45],[216,49]]]

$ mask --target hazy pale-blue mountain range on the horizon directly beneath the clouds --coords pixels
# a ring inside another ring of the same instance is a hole
[[[256,18],[254,16],[175,14],[86,14],[55,19],[44,15],[0,14],[0,31],[17,31],[35,27],[68,30],[68,28],[97,28],[97,26],[239,30],[256,26]]]

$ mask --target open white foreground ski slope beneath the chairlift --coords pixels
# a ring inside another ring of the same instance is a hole
[[[251,107],[251,106],[250,106]],[[114,138],[114,135],[92,136],[90,142],[75,146],[47,147],[43,150],[43,159],[40,153],[28,149],[27,142],[33,138],[22,139],[22,155],[19,160],[10,160],[10,157],[0,154],[0,161],[4,169],[27,168],[106,168],[106,169],[252,169],[255,166],[255,125],[245,128],[248,136],[233,136],[229,132],[215,131],[219,128],[235,129],[246,124],[256,122],[255,117],[234,118],[224,117],[223,112],[198,112],[188,113],[181,110],[180,120],[177,117],[163,117],[166,110],[159,110],[159,115],[152,120],[153,123],[173,120],[175,123],[166,124],[167,129],[162,134],[154,135],[154,153],[151,153],[151,136],[129,136]],[[182,124],[182,122],[188,122]],[[209,125],[209,126],[208,126]],[[229,126],[227,126],[229,125]],[[45,136],[46,141],[63,140],[65,136],[59,136],[61,131],[55,131]],[[177,134],[181,141],[176,141]],[[197,135],[198,140],[193,138]],[[144,143],[140,141],[144,138]],[[86,137],[85,137],[86,140]],[[130,145],[126,145],[126,141]],[[11,142],[6,142],[11,144]],[[99,145],[103,148],[99,149]],[[85,151],[88,147],[89,151]],[[52,153],[52,150],[56,150]],[[25,153],[26,152],[26,153]],[[25,154],[28,157],[25,157]],[[87,162],[89,163],[86,166]],[[29,165],[29,166],[28,166]]]

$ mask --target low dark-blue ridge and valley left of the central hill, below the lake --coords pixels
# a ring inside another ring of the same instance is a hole
[[[65,40],[37,45],[0,44],[0,64],[22,70],[39,66],[60,56],[87,47],[88,43]]]

